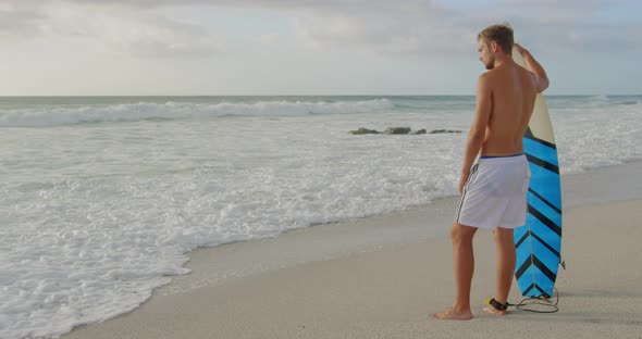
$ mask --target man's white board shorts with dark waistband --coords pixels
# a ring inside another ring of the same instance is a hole
[[[464,186],[456,222],[478,228],[523,226],[530,177],[523,154],[481,156]]]

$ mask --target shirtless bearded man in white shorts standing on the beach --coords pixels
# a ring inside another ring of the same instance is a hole
[[[505,315],[515,271],[513,229],[524,225],[530,171],[523,155],[527,130],[536,93],[548,87],[544,68],[521,46],[513,42],[513,29],[493,25],[478,36],[479,60],[486,73],[477,87],[477,109],[468,135],[457,208],[453,224],[455,304],[434,317],[470,319],[470,285],[474,268],[472,238],[478,228],[494,229],[497,289],[484,311]],[[513,61],[516,49],[528,70]],[[477,163],[476,158],[480,154]],[[474,164],[473,164],[474,163]]]

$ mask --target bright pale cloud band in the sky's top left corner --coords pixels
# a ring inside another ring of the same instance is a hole
[[[108,52],[145,58],[206,56],[222,49],[222,38],[205,28],[152,11],[131,11],[113,3],[21,1],[0,8],[0,34],[77,37]],[[88,1],[86,1],[88,2]]]

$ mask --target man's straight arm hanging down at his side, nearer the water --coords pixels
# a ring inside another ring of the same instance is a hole
[[[484,142],[486,134],[486,126],[491,118],[491,110],[493,104],[493,91],[489,84],[485,74],[482,74],[477,83],[477,106],[474,110],[474,118],[468,133],[468,140],[466,141],[466,151],[464,153],[464,165],[461,166],[461,177],[459,178],[459,192],[464,190],[464,185],[470,175],[470,167],[479,154],[479,151]]]

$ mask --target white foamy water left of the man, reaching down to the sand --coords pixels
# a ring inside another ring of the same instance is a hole
[[[186,273],[185,253],[199,246],[454,194],[454,176],[433,173],[455,173],[460,147],[448,145],[460,145],[461,135],[347,134],[386,120],[4,129],[3,145],[12,147],[1,154],[0,337],[59,335],[127,312],[166,276]]]

